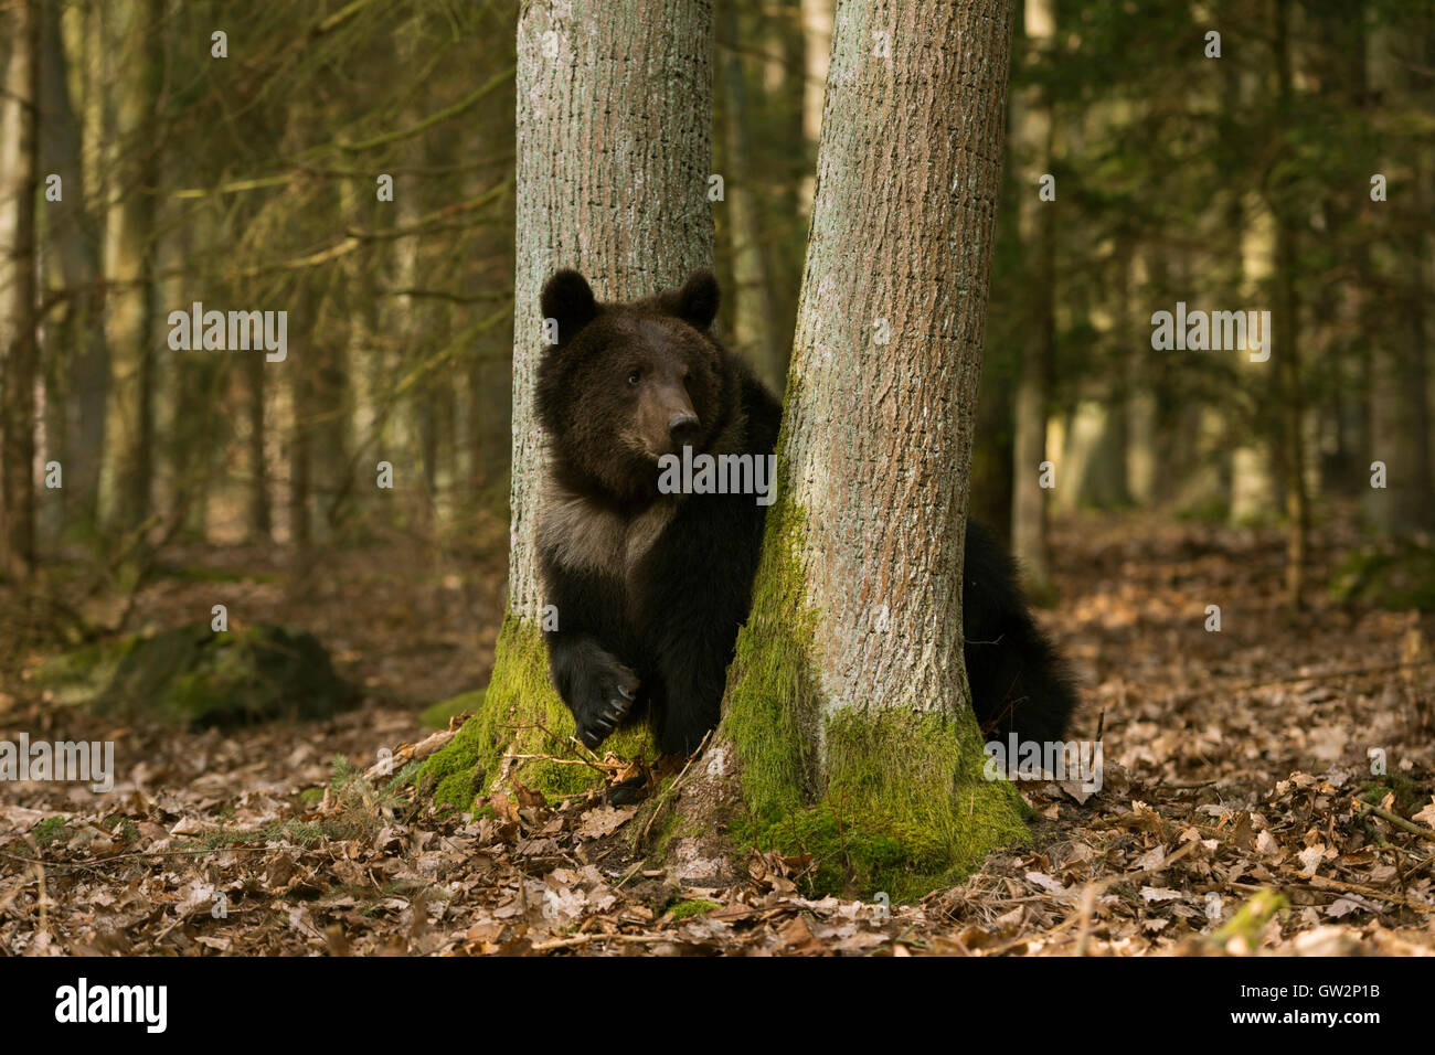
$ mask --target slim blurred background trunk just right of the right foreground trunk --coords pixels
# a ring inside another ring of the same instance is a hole
[[[1026,0],[1026,39],[1032,49],[1049,49],[1056,34],[1056,0]],[[1027,589],[1035,596],[1052,590],[1050,553],[1046,538],[1046,492],[1042,462],[1046,461],[1046,415],[1052,356],[1056,344],[1056,217],[1055,202],[1038,198],[1038,179],[1050,172],[1052,100],[1040,88],[1027,89],[1013,108],[1012,135],[1019,141],[1022,174],[1016,207],[1022,243],[1027,247],[1032,273],[1032,320],[1022,349],[1022,372],[1016,383],[1015,449],[1012,455],[1012,551],[1022,564]]]

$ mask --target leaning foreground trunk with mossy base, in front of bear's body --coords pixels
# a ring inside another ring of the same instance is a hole
[[[664,838],[689,881],[748,843],[907,897],[1023,834],[961,650],[1012,4],[841,0],[835,26],[778,500]]]

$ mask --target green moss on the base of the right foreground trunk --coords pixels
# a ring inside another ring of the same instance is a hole
[[[759,850],[812,854],[806,878],[817,893],[920,897],[960,881],[990,850],[1026,843],[1022,800],[1006,781],[984,779],[969,712],[822,716],[817,614],[798,560],[804,515],[782,498],[784,484],[729,670],[720,739],[733,746],[743,805],[730,833]]]

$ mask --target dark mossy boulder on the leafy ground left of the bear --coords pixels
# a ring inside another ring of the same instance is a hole
[[[192,623],[89,646],[36,680],[98,713],[182,726],[327,718],[359,702],[313,634],[273,623],[220,633]]]

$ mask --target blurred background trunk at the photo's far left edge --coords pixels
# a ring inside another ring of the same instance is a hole
[[[40,3],[20,0],[0,99],[0,573],[34,567],[34,210],[40,182]]]

